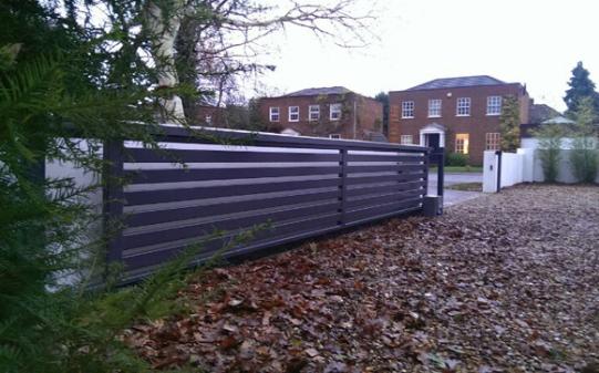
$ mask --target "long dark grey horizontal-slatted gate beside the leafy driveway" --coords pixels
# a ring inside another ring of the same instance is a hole
[[[419,210],[426,194],[425,147],[210,132],[244,143],[219,145],[175,127],[157,136],[163,151],[124,142],[106,152],[111,172],[128,180],[105,195],[107,217],[125,225],[110,259],[130,279],[197,242],[197,260],[206,259],[255,225],[269,228],[225,257]]]

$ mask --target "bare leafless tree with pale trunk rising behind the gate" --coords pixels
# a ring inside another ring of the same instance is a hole
[[[339,0],[324,6],[289,1],[271,6],[251,0],[149,0],[145,27],[153,40],[158,86],[171,90],[183,81],[209,87],[217,92],[219,104],[224,92],[235,87],[236,75],[272,69],[256,63],[264,52],[260,42],[288,27],[306,29],[341,46],[363,46],[373,17],[370,10],[355,13],[355,2]],[[179,95],[173,93],[163,106],[184,121]]]

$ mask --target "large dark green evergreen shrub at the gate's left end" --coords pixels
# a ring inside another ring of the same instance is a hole
[[[159,93],[144,85],[152,72],[131,70],[135,49],[104,49],[116,33],[99,35],[104,45],[34,1],[2,1],[0,23],[0,372],[148,372],[118,336],[174,305],[167,299],[187,258],[136,288],[91,291],[105,269],[105,237],[89,237],[100,217],[82,201],[100,185],[35,169],[50,159],[100,174],[103,142],[155,146]],[[147,125],[132,125],[140,122]],[[93,138],[87,149],[73,131]]]

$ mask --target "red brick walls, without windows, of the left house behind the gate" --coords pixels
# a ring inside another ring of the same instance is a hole
[[[340,104],[339,120],[331,120],[331,106]],[[310,120],[309,107],[319,107],[319,118]],[[290,121],[291,106],[299,107],[299,118]],[[342,94],[288,95],[260,99],[260,117],[281,132],[293,131],[302,136],[347,139],[370,139],[370,134],[382,132],[383,106],[380,102],[354,92]],[[271,121],[271,107],[279,108],[278,121]]]

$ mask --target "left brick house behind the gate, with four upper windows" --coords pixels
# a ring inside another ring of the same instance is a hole
[[[262,97],[261,120],[280,133],[349,139],[384,139],[383,106],[342,86]]]

